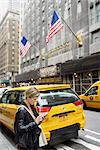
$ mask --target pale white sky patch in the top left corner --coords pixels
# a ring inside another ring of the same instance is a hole
[[[8,8],[8,0],[0,0],[0,21],[4,17]]]

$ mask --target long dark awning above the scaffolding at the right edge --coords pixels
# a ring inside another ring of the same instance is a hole
[[[100,70],[100,54],[91,55],[61,64],[61,75],[95,70]]]

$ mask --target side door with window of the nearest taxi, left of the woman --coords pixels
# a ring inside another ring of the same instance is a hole
[[[0,120],[10,130],[13,131],[15,113],[18,107],[16,91],[7,91],[0,103]]]

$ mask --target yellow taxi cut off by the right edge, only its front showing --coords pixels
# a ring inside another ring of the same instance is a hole
[[[100,81],[95,82],[86,92],[79,96],[84,107],[100,109]]]

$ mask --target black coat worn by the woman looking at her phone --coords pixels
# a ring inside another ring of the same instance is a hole
[[[23,105],[26,106],[25,103]],[[27,107],[27,106],[26,106]],[[37,117],[38,113],[33,107],[34,116]],[[15,142],[22,148],[27,150],[37,150],[39,146],[39,135],[41,129],[38,127],[32,116],[25,108],[19,108],[14,123]]]

